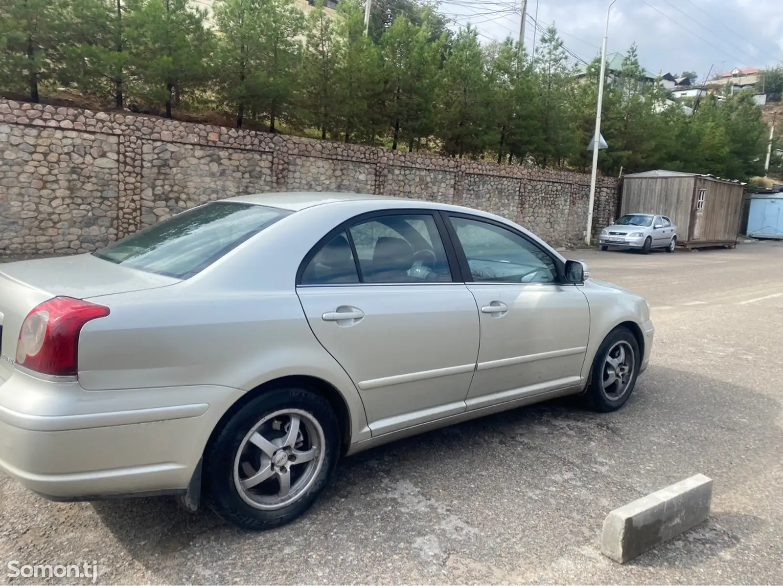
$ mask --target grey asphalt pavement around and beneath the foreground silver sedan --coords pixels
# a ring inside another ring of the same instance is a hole
[[[264,534],[0,476],[0,583],[13,559],[95,559],[99,583],[125,584],[781,583],[783,243],[569,256],[653,307],[651,366],[619,412],[556,401],[347,458],[309,514]],[[601,556],[611,509],[695,473],[715,480],[707,523],[624,566]]]

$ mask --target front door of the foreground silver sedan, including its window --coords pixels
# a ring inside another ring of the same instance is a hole
[[[481,324],[467,408],[578,386],[590,334],[582,290],[562,283],[558,261],[524,234],[466,214],[448,219]]]

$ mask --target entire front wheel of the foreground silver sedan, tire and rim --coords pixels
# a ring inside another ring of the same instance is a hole
[[[613,329],[593,361],[584,395],[590,408],[602,413],[621,408],[633,392],[640,365],[639,344],[633,333],[622,326]]]

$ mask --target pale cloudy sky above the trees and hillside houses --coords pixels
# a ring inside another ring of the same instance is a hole
[[[555,23],[565,46],[589,61],[601,50],[611,0],[528,0],[525,45],[532,19]],[[453,23],[474,23],[482,42],[519,35],[520,0],[442,0]],[[541,34],[536,33],[536,44]],[[690,70],[698,79],[734,67],[774,67],[783,59],[783,0],[617,0],[609,18],[607,52],[639,48],[653,73]]]

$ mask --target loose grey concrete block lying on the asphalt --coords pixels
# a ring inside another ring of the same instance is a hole
[[[713,499],[713,480],[696,474],[631,502],[604,519],[601,553],[626,563],[704,522]]]

